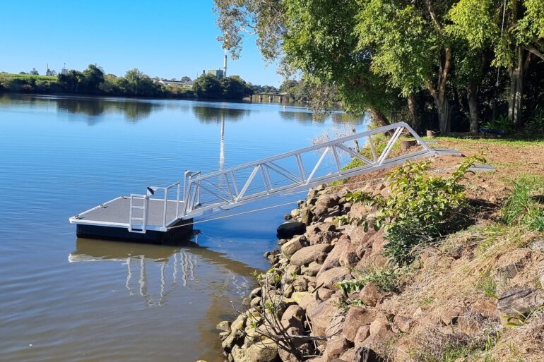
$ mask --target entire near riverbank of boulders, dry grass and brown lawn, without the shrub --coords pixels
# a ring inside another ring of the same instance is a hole
[[[237,319],[218,325],[228,361],[540,361],[544,144],[437,143],[497,168],[461,181],[466,222],[399,265],[391,229],[361,222],[377,219],[365,200],[394,200],[394,180],[379,172],[310,191],[290,215],[301,229],[265,254],[271,269],[256,275]],[[461,161],[432,159],[430,169],[448,179]]]

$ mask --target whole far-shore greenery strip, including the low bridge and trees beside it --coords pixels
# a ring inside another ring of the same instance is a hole
[[[203,74],[191,80],[151,78],[134,68],[124,76],[107,74],[96,64],[83,71],[63,69],[60,73],[47,69],[40,75],[35,68],[29,72],[0,72],[0,93],[102,95],[110,97],[156,97],[171,99],[221,99],[240,101],[255,93],[282,94],[292,102],[309,102],[312,89],[303,80],[285,81],[280,88],[253,85],[240,76],[218,78]]]

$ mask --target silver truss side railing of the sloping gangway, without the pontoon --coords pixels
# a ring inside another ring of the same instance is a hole
[[[398,138],[400,138],[403,132],[410,133],[410,135],[415,138],[422,149],[410,152],[408,155],[388,158],[391,150],[393,150],[394,144]],[[372,141],[372,135],[377,135],[380,133],[387,133],[391,135],[391,138],[386,144],[384,150],[377,155],[377,150],[375,149]],[[359,140],[361,138],[364,138],[369,143],[372,150],[372,159],[361,155],[360,152],[357,152],[353,150],[352,147],[345,145],[345,143]],[[319,157],[318,161],[312,165],[312,171],[307,174],[304,168],[302,154],[319,150],[322,152],[321,157]],[[341,152],[347,153],[353,158],[360,159],[360,161],[363,163],[362,166],[348,170],[342,169],[339,156]],[[209,174],[199,176],[193,175],[194,177],[189,177],[187,180],[187,190],[184,193],[184,205],[180,217],[187,218],[189,216],[201,215],[202,212],[208,210],[223,210],[225,208],[235,207],[254,200],[266,198],[269,195],[297,191],[302,188],[315,186],[319,183],[336,181],[355,174],[391,167],[396,164],[406,162],[408,159],[430,157],[438,155],[439,153],[439,151],[429,147],[425,141],[420,138],[418,133],[416,133],[413,128],[408,125],[408,123],[394,123],[362,133],[348,135],[347,137],[338,138],[336,140],[329,140],[318,145],[304,147],[300,150],[285,152],[280,155],[260,159],[254,162],[247,162],[229,169],[214,171]],[[319,167],[324,161],[326,155],[332,155],[336,165],[336,170],[324,176],[317,176],[317,171],[319,170]],[[295,157],[296,159],[298,167],[297,173],[289,171],[277,163],[279,160],[288,159],[290,157]],[[248,169],[248,171],[250,171],[249,176],[244,176],[243,181],[245,182],[240,184],[240,186],[243,186],[239,188],[235,173],[244,169]],[[271,180],[271,171],[283,176],[283,181],[290,181],[290,184],[287,186],[276,187]],[[249,193],[249,186],[252,184],[257,174],[261,174],[263,185],[266,189],[257,193]],[[201,192],[205,192],[208,195],[213,196],[216,202],[209,203],[204,201],[201,203]]]

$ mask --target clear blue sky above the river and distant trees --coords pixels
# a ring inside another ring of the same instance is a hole
[[[123,75],[138,68],[149,76],[195,78],[223,67],[212,0],[0,0],[0,71],[36,68],[82,70],[88,64]],[[242,57],[228,59],[229,75],[259,85],[279,85],[247,37]]]

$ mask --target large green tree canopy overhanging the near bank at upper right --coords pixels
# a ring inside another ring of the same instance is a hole
[[[544,93],[527,76],[544,72],[542,0],[215,0],[215,11],[232,56],[257,35],[283,73],[336,88],[345,109],[381,124],[403,114],[416,128],[478,131],[505,114],[521,125],[536,109],[524,99]]]

